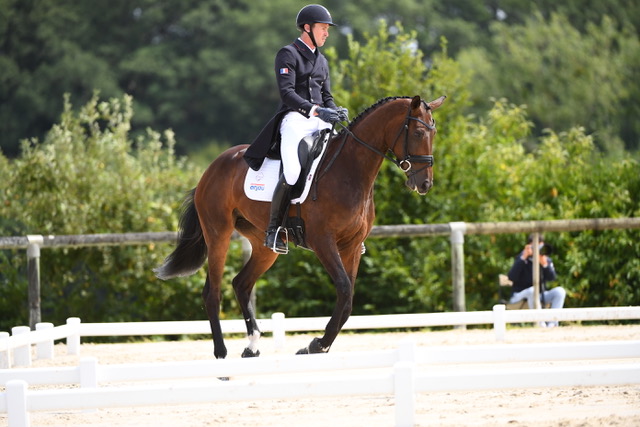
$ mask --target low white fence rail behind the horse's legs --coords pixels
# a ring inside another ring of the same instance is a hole
[[[389,314],[378,316],[351,316],[344,325],[349,329],[391,329],[433,326],[493,325],[497,341],[504,341],[506,325],[509,323],[548,321],[600,321],[640,319],[640,306],[590,307],[545,310],[505,310],[498,304],[492,311]],[[285,318],[274,313],[271,319],[259,319],[263,332],[272,332],[274,345],[282,348],[286,332],[320,331],[326,326],[328,317]],[[223,320],[223,333],[245,333],[243,320]],[[138,336],[138,335],[191,335],[209,334],[209,322],[121,322],[81,323],[79,318],[67,319],[67,324],[53,327],[51,323],[38,324],[36,331],[26,326],[12,329],[12,336],[0,332],[0,368],[30,366],[30,346],[37,345],[37,357],[53,358],[55,340],[66,339],[67,353],[80,353],[81,337]]]

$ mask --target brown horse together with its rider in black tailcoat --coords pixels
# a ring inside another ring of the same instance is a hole
[[[185,199],[174,251],[154,269],[159,278],[166,280],[194,274],[207,262],[202,298],[211,326],[213,354],[218,359],[227,356],[220,304],[225,261],[234,231],[251,245],[251,255],[231,285],[249,339],[242,357],[255,357],[260,354],[258,340],[262,333],[251,292],[258,278],[275,263],[278,251],[286,251],[285,243],[278,237],[278,228],[290,203],[290,186],[301,174],[297,157],[299,141],[316,130],[328,129],[335,122],[347,119],[346,111],[336,107],[333,101],[327,62],[318,52],[328,36],[328,28],[334,25],[331,15],[322,6],[309,5],[300,11],[296,21],[300,38],[285,46],[276,57],[276,77],[282,97],[278,113],[251,146],[230,147],[211,162]],[[425,195],[433,186],[436,136],[433,111],[445,98],[441,96],[430,102],[419,95],[384,98],[361,112],[338,134],[330,136],[318,166],[322,172],[314,181],[316,197],[297,205],[296,211],[307,224],[306,247],[313,251],[331,278],[336,299],[324,334],[298,353],[329,351],[351,315],[362,242],[371,232],[375,219],[374,186],[382,162],[389,160],[398,166],[406,175],[405,185],[411,191]],[[269,209],[263,201],[250,198],[244,184],[249,166],[260,168],[278,137],[284,173]],[[271,218],[267,224],[269,211]],[[266,241],[265,229],[268,230]]]

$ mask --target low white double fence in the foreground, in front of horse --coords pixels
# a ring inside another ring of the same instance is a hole
[[[640,341],[432,348],[416,348],[405,341],[397,350],[376,352],[103,366],[87,358],[75,368],[10,370],[6,391],[0,393],[0,412],[8,414],[9,427],[27,427],[31,411],[387,394],[395,397],[396,425],[410,426],[416,392],[640,383],[640,363],[504,367],[505,362],[612,358],[640,358]],[[438,364],[488,362],[500,365],[458,366],[448,372],[429,369]],[[221,376],[240,377],[215,380]],[[198,381],[184,382],[194,378]],[[181,382],[98,387],[99,383],[158,380]],[[82,388],[28,389],[28,383],[67,382],[80,383]]]

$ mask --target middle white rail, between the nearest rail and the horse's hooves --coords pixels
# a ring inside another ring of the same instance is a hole
[[[282,375],[327,370],[355,370],[391,367],[400,361],[419,364],[515,363],[544,360],[597,360],[640,358],[640,341],[603,341],[554,344],[495,344],[434,346],[339,354],[259,357],[253,359],[197,360],[153,364],[99,365],[88,357],[76,367],[22,368],[0,371],[0,386],[13,380],[31,385],[78,384],[96,387],[119,381],[201,379],[242,375]],[[1,404],[0,404],[1,407]]]

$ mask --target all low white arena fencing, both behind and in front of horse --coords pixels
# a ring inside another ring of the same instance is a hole
[[[345,328],[493,323],[500,341],[506,323],[638,318],[640,307],[505,311],[504,306],[496,306],[487,312],[354,316]],[[275,314],[261,320],[260,327],[273,332],[274,343],[280,346],[285,331],[322,330],[326,321],[285,319]],[[25,362],[21,361],[26,357],[21,354],[25,346],[30,354],[31,344],[38,346],[38,357],[52,357],[49,344],[57,339],[66,338],[68,351],[78,354],[81,336],[208,334],[208,327],[206,321],[82,324],[71,318],[67,325],[46,325],[5,336],[0,340],[0,354],[11,362],[13,351],[13,365],[18,365],[15,362]],[[225,321],[223,331],[242,333],[244,322]],[[599,359],[607,363],[594,363]],[[414,424],[417,392],[638,384],[639,359],[640,341],[428,348],[405,341],[397,350],[125,365],[99,365],[95,358],[85,358],[78,367],[0,369],[0,386],[5,386],[0,393],[0,413],[7,413],[9,427],[22,427],[30,425],[31,411],[383,394],[395,397],[395,424],[405,426]],[[578,360],[583,363],[527,363]],[[446,369],[451,364],[455,368]],[[232,380],[215,380],[218,377]],[[167,380],[179,382],[161,383]],[[151,384],[129,384],[136,381]],[[114,382],[127,384],[109,385]],[[79,384],[81,388],[29,390],[28,384]]]

